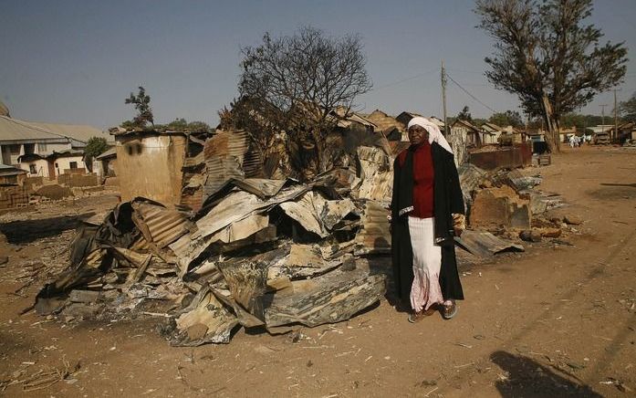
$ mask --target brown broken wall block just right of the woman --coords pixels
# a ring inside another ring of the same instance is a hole
[[[476,228],[530,229],[532,223],[530,198],[517,194],[507,185],[482,189],[474,195],[469,222]]]

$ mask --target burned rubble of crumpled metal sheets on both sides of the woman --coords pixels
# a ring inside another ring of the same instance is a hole
[[[360,145],[347,167],[300,183],[248,173],[245,140],[229,132],[196,139],[204,150],[185,159],[182,181],[182,197],[194,205],[136,197],[87,220],[36,311],[162,317],[172,345],[195,346],[227,343],[239,327],[284,333],[339,322],[378,303],[391,286],[386,216],[401,148],[386,139]],[[215,173],[222,169],[229,172]],[[559,205],[533,189],[538,177],[469,163],[459,171],[473,230],[456,241],[475,257],[523,251],[519,234],[537,225],[536,209]],[[493,206],[501,214],[480,210]]]

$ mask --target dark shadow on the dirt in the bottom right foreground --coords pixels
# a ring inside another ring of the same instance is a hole
[[[521,355],[495,351],[490,359],[508,373],[506,380],[495,383],[503,397],[602,396],[592,391],[589,386],[576,382],[574,376],[565,372],[555,372],[555,369]]]

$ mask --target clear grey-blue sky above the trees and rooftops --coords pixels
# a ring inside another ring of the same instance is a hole
[[[449,81],[449,116],[464,105],[482,118],[520,110],[515,95],[485,79],[493,42],[475,28],[473,8],[471,0],[0,0],[0,100],[17,119],[108,129],[133,117],[124,99],[141,85],[155,122],[214,126],[217,111],[237,96],[241,48],[257,46],[265,32],[293,35],[310,25],[362,38],[374,88],[357,100],[360,111],[442,117],[442,60],[479,99]],[[603,41],[629,48],[619,101],[636,91],[634,21],[635,0],[597,1],[589,19]],[[608,104],[609,114],[613,100],[602,93],[581,111],[600,114]]]

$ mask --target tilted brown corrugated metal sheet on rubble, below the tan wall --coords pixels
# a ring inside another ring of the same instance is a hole
[[[132,208],[144,224],[135,223],[141,233],[160,248],[170,245],[193,227],[186,214],[157,204],[133,202]],[[137,220],[133,217],[133,221]]]

